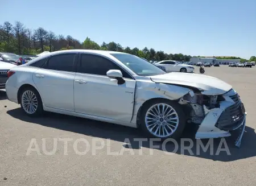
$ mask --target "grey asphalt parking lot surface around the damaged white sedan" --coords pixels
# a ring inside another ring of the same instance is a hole
[[[142,135],[129,127],[53,113],[29,118],[19,105],[6,100],[5,92],[0,92],[0,185],[256,185],[256,68],[221,65],[205,68],[205,75],[233,85],[245,104],[246,132],[240,148],[227,140],[231,155],[226,151],[216,155],[220,139],[214,140],[213,154],[210,150],[198,153],[196,146],[191,149],[193,154],[182,153],[180,147],[177,152],[167,153],[173,152],[173,144],[167,144],[166,150],[150,148],[150,142],[140,146],[134,138]],[[193,139],[195,132],[196,127],[188,126],[183,138]],[[41,155],[35,151],[26,155],[32,138]],[[48,151],[53,149],[54,138],[71,138],[67,155],[60,141],[53,155],[44,153],[43,138]],[[73,148],[80,138],[90,145],[77,145],[80,152],[89,149],[85,155]],[[123,144],[126,138],[130,146]],[[95,140],[105,145],[94,154]],[[109,151],[122,150],[126,150],[123,155],[109,155]]]

